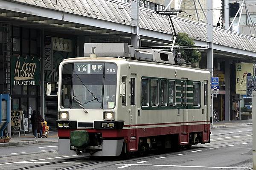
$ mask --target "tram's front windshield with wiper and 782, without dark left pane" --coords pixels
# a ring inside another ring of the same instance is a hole
[[[114,108],[116,70],[112,63],[74,63],[70,108],[81,109],[81,105],[85,109]]]

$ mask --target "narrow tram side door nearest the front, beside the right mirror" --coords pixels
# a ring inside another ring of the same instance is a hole
[[[136,136],[136,74],[131,74],[130,78],[130,125],[131,125],[131,136]]]

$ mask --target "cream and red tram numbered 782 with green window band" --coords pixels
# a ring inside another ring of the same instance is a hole
[[[210,142],[208,70],[125,43],[85,44],[84,56],[91,47],[90,57],[59,66],[59,155],[143,154]]]

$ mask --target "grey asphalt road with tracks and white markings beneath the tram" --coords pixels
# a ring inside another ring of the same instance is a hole
[[[58,143],[0,148],[1,170],[238,170],[252,169],[252,125],[212,129],[211,143],[129,159],[59,156]]]

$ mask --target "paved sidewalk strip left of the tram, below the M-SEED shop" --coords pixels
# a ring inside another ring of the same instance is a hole
[[[52,143],[58,143],[58,131],[52,130],[49,131],[48,138],[35,138],[35,136],[32,133],[26,133],[26,136],[24,136],[24,133],[20,132],[20,137],[18,133],[15,133],[12,135],[10,142],[6,143],[0,143],[0,147],[6,147],[6,146],[16,146],[16,145],[24,145],[24,144],[35,144],[35,143],[41,143],[41,142],[52,142]]]

